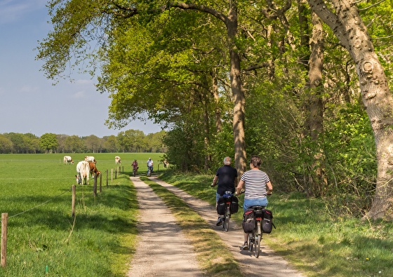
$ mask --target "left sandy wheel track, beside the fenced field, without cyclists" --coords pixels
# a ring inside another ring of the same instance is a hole
[[[140,215],[137,249],[127,276],[202,277],[194,249],[170,210],[139,177],[131,180],[137,191]]]

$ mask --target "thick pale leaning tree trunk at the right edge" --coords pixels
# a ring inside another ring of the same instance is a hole
[[[378,160],[375,196],[368,216],[393,220],[393,97],[382,65],[353,1],[331,0],[332,9],[323,0],[308,2],[312,11],[331,27],[357,68],[362,100],[375,136]]]

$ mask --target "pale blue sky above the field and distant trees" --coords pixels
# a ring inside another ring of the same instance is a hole
[[[0,133],[117,135],[122,130],[156,133],[161,127],[132,122],[126,128],[104,125],[110,99],[90,76],[74,72],[73,82],[46,79],[36,61],[37,41],[51,29],[46,0],[0,0]],[[88,120],[84,120],[88,116]]]

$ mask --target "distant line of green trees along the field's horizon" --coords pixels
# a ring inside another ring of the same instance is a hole
[[[118,135],[97,137],[89,135],[56,135],[45,133],[0,134],[1,154],[38,153],[108,153],[108,152],[166,152],[163,138],[166,131],[145,135],[141,130],[126,130]]]

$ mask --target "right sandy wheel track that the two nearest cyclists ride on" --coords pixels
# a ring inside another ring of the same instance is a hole
[[[229,222],[229,230],[227,232],[222,227],[215,226],[217,220],[217,212],[215,208],[205,201],[201,201],[194,196],[187,194],[187,192],[174,187],[156,177],[151,177],[150,180],[160,184],[176,196],[182,198],[190,208],[198,212],[208,224],[211,225],[222,241],[226,243],[227,248],[232,252],[235,259],[239,262],[241,271],[247,277],[303,277],[302,273],[293,269],[283,257],[277,255],[273,250],[263,245],[263,240],[260,246],[260,256],[255,258],[251,252],[241,250],[241,245],[244,240],[243,229],[235,224],[233,221]],[[213,192],[213,191],[212,191]],[[213,195],[212,195],[213,197]],[[243,212],[243,208],[239,207],[239,212]],[[265,236],[271,236],[266,235]],[[225,251],[225,250],[223,250]]]

